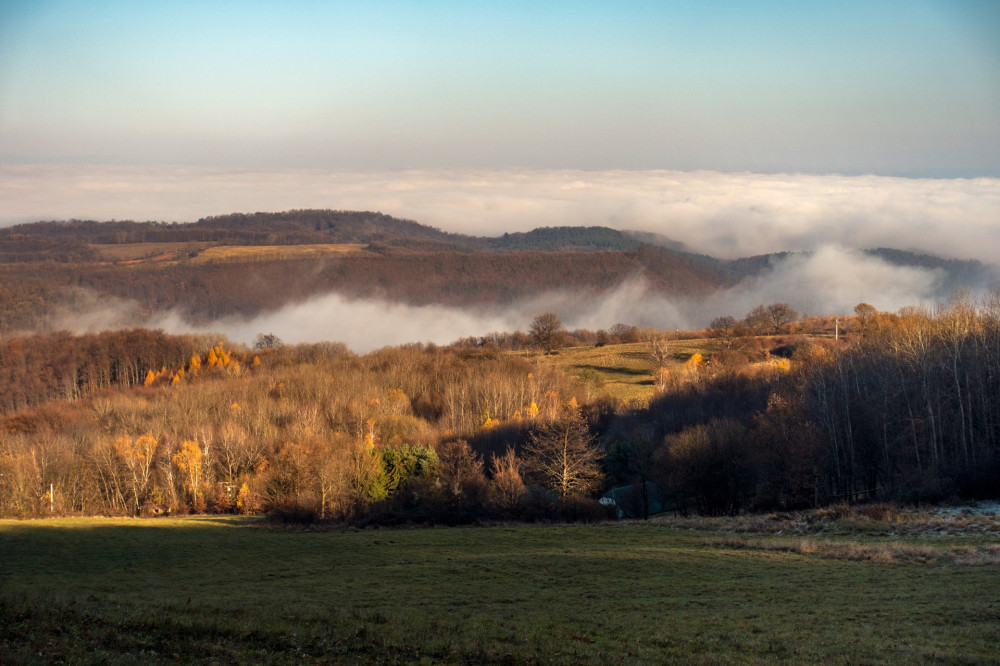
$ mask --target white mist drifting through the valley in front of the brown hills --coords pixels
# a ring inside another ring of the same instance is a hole
[[[338,341],[363,353],[409,342],[447,344],[493,331],[527,330],[532,318],[552,311],[570,329],[607,329],[618,322],[664,329],[701,328],[712,318],[742,318],[758,304],[787,302],[803,314],[849,314],[866,301],[895,311],[903,306],[934,305],[947,297],[936,271],[892,266],[856,250],[829,246],[808,256],[776,263],[765,275],[746,280],[707,299],[670,299],[651,291],[641,279],[629,280],[598,297],[549,292],[503,308],[415,306],[380,299],[352,300],[328,294],[252,318],[231,317],[192,324],[181,312],[146,321],[130,319],[126,303],[96,303],[81,296],[84,316],[64,313],[59,326],[76,331],[143,325],[168,333],[221,333],[234,342],[252,343],[273,333],[286,343]]]

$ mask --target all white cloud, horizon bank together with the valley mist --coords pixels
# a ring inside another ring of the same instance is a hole
[[[182,312],[142,322],[169,332],[211,330],[249,342],[340,340],[357,351],[412,341],[447,343],[525,329],[554,311],[570,328],[616,322],[706,325],[784,301],[809,314],[882,310],[945,298],[941,275],[892,266],[858,248],[893,247],[993,263],[1000,256],[1000,179],[678,171],[245,170],[0,165],[0,224],[37,220],[193,221],[230,212],[295,208],[373,210],[476,235],[539,226],[603,225],[650,231],[720,258],[808,251],[707,299],[651,293],[640,278],[595,297],[571,285],[504,308],[456,309],[328,294],[250,320],[194,326]],[[105,304],[106,305],[106,304]],[[128,311],[128,305],[123,304]],[[106,328],[119,308],[67,314],[74,330]],[[133,322],[134,323],[134,322]]]

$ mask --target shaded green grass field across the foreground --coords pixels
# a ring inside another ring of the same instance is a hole
[[[997,663],[998,582],[657,525],[0,521],[0,663]]]

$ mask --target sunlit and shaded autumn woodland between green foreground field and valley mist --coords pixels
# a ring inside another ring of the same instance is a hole
[[[631,515],[650,493],[705,514],[1000,496],[1000,297],[859,304],[846,324],[839,340],[715,339],[689,357],[640,332],[648,405],[588,401],[546,362],[544,330],[536,355],[41,336],[19,376],[59,346],[105,360],[90,392],[4,405],[0,514],[466,522],[604,517],[595,500],[611,488],[630,489],[616,497],[631,493]],[[146,343],[174,363],[140,357]]]

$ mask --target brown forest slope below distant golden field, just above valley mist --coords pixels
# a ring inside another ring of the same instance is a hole
[[[88,295],[132,304],[133,319],[121,325],[135,326],[172,309],[197,323],[252,317],[332,292],[420,305],[482,306],[559,291],[566,284],[597,294],[637,275],[672,295],[703,295],[723,283],[721,272],[691,268],[667,255],[647,246],[628,252],[498,254],[383,245],[378,252],[335,259],[0,264],[0,335],[53,330],[60,313],[86,309]],[[234,291],[233,284],[254,288]]]

